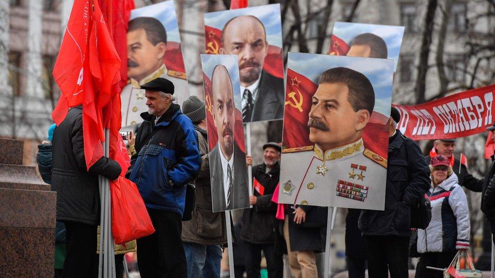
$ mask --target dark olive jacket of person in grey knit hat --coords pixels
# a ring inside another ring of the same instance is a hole
[[[182,222],[182,241],[204,245],[227,243],[224,212],[211,211],[211,186],[206,131],[194,126],[198,135],[201,168],[196,184],[196,209],[190,221]]]

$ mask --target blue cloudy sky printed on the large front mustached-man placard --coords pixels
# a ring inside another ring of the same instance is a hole
[[[375,91],[374,111],[390,116],[394,60],[289,52],[287,68],[318,84],[320,74],[334,67],[347,67],[363,73]]]

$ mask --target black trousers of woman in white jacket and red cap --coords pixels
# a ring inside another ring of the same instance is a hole
[[[416,266],[414,278],[443,278],[443,271],[426,268],[427,266],[447,268],[457,251],[422,253]]]

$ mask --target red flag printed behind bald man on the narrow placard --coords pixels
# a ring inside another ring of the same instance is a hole
[[[203,89],[204,89],[204,103],[206,109],[206,125],[208,132],[208,147],[213,149],[218,143],[217,128],[215,127],[213,119],[213,101],[211,98],[211,81],[208,76],[203,72]],[[239,109],[235,109],[235,123],[234,123],[234,135],[244,134],[244,126],[242,124],[242,113]],[[234,136],[234,140],[237,146],[244,153],[246,152],[246,146],[244,142],[244,136]]]

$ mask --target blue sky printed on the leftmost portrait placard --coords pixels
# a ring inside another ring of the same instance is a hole
[[[142,16],[158,19],[165,26],[167,41],[181,42],[173,0],[132,10],[130,20]]]

